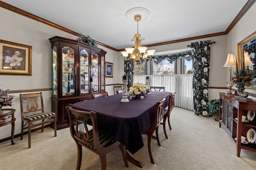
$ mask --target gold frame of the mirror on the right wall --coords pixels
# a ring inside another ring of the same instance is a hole
[[[241,66],[241,61],[244,57],[244,49],[243,49],[243,46],[248,44],[250,41],[252,41],[253,39],[256,39],[256,31],[253,32],[252,34],[250,34],[248,37],[246,37],[245,39],[243,39],[242,41],[240,41],[238,44],[237,44],[237,49],[238,49],[238,68],[240,68]],[[256,53],[256,51],[255,51]],[[254,63],[255,64],[255,63]],[[255,70],[255,65],[254,65],[254,70]],[[245,88],[252,88],[252,89],[256,89],[256,86],[250,86],[250,87],[247,87],[245,86]]]

